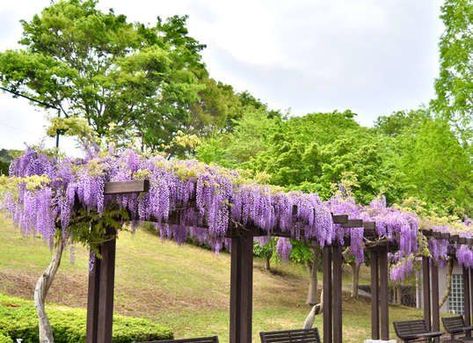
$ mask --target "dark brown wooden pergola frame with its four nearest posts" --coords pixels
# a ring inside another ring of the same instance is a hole
[[[108,182],[106,195],[147,192],[149,182]],[[297,208],[293,209],[297,213]],[[178,220],[179,216],[175,216]],[[173,217],[174,218],[174,217]],[[388,248],[392,242],[378,239],[374,222],[349,219],[348,215],[332,215],[334,224],[344,228],[364,228],[364,238],[372,243],[367,246],[371,254],[372,288],[372,338],[389,339],[388,313]],[[172,224],[172,223],[170,223]],[[111,230],[109,234],[114,234]],[[255,225],[231,223],[227,238],[231,239],[230,280],[230,342],[252,341],[253,305],[253,237],[268,235]],[[275,229],[272,236],[289,237],[288,232]],[[302,235],[301,235],[302,236]],[[345,245],[349,244],[345,237]],[[323,341],[342,343],[342,248],[334,243],[323,248]],[[95,260],[89,272],[87,302],[87,342],[112,341],[113,297],[115,278],[115,238],[100,246],[101,259]],[[437,292],[438,293],[438,292]]]

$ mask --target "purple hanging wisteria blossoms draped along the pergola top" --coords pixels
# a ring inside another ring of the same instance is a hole
[[[27,149],[11,164],[10,176],[16,180],[17,190],[5,194],[2,207],[25,234],[40,234],[48,242],[58,232],[71,234],[70,223],[77,208],[100,216],[118,207],[129,214],[132,223],[153,222],[162,238],[178,243],[191,238],[217,251],[229,248],[225,237],[229,229],[240,226],[259,230],[263,235],[260,241],[282,234],[313,240],[321,247],[344,244],[348,235],[358,264],[364,260],[364,229],[335,225],[332,214],[374,221],[377,234],[399,246],[391,261],[391,278],[395,281],[413,270],[419,249],[417,216],[388,207],[383,197],[369,206],[340,195],[324,202],[316,194],[283,192],[243,182],[235,171],[197,161],[144,158],[131,150],[89,154],[87,159],[60,159]],[[109,181],[137,179],[150,181],[149,192],[104,195]],[[471,223],[465,220],[464,225]],[[289,238],[278,239],[276,251],[282,259],[289,258],[291,248]],[[430,239],[428,248],[437,263],[445,263],[447,240]],[[456,254],[462,265],[473,267],[470,248],[459,246]]]

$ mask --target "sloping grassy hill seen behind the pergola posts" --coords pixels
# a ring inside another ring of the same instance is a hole
[[[85,307],[87,251],[77,246],[73,254],[73,264],[64,257],[48,302]],[[35,280],[49,258],[46,244],[23,237],[0,217],[0,293],[31,299]],[[347,271],[345,279],[349,277]],[[222,342],[228,341],[229,280],[228,254],[178,246],[146,231],[121,233],[118,239],[115,310],[162,323],[175,337],[216,334]],[[306,271],[300,266],[279,264],[268,273],[262,261],[255,261],[255,342],[261,330],[301,327],[309,310],[304,305],[307,285]],[[369,337],[369,301],[345,296],[343,315],[345,342],[359,343]],[[420,312],[392,306],[390,315],[392,320],[407,319],[419,317]],[[322,328],[320,316],[316,326]]]

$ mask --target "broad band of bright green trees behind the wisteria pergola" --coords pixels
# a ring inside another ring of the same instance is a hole
[[[204,140],[197,157],[324,199],[343,185],[362,204],[383,194],[389,204],[418,199],[440,216],[473,211],[472,161],[448,124],[425,110],[380,117],[373,129],[350,111],[287,120],[253,112],[233,132]]]

